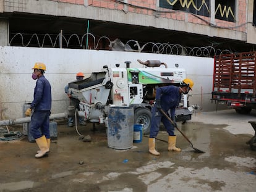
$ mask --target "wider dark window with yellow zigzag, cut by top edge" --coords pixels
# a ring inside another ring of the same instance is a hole
[[[210,0],[160,0],[160,7],[210,16]]]

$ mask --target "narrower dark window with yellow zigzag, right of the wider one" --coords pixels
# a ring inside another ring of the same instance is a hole
[[[236,20],[235,0],[215,0],[215,19],[235,22]]]

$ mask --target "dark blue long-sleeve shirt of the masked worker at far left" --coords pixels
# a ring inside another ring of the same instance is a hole
[[[35,111],[51,111],[51,85],[44,75],[36,80],[34,99],[30,107]]]

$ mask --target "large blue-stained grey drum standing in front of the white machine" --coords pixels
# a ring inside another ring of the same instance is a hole
[[[108,147],[130,149],[134,139],[134,109],[132,107],[109,107]]]

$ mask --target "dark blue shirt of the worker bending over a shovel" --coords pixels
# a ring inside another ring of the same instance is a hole
[[[161,108],[163,111],[171,109],[171,117],[175,115],[175,109],[179,106],[181,100],[181,93],[179,93],[179,86],[162,86],[156,89],[156,100],[161,101]]]

